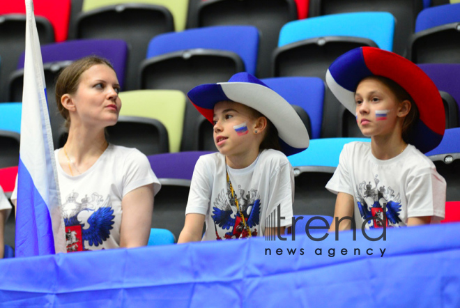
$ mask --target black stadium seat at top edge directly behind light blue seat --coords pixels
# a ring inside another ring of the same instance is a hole
[[[415,18],[423,8],[417,0],[310,0],[311,17],[350,12],[388,12],[397,20],[393,51],[405,56]]]

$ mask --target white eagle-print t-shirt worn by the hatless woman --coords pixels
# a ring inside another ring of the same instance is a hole
[[[93,166],[77,176],[66,174],[59,163],[56,167],[68,252],[120,247],[125,194],[153,183],[155,195],[161,187],[146,155],[136,148],[109,144]]]

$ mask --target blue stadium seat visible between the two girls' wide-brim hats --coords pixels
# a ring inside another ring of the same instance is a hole
[[[289,104],[299,106],[307,112],[309,121],[307,130],[310,139],[321,137],[325,90],[323,80],[317,77],[276,77],[262,79],[262,82],[281,95]]]

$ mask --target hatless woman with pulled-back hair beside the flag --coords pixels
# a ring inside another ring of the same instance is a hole
[[[112,65],[94,56],[65,68],[56,102],[68,139],[56,156],[68,252],[146,245],[160,183],[147,157],[114,146],[105,128],[121,109]]]

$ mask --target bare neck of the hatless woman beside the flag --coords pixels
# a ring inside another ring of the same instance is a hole
[[[104,129],[95,131],[83,126],[70,125],[65,147],[75,164],[82,164],[90,157],[99,157],[107,146]]]

